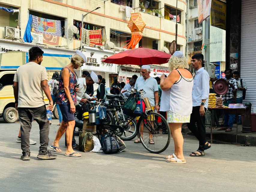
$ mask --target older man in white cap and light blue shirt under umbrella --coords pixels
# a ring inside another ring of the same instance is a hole
[[[136,80],[134,89],[136,90],[143,89],[146,92],[144,96],[149,99],[149,102],[152,106],[152,110],[154,111],[156,109],[158,112],[160,108],[158,105],[158,101],[159,101],[158,84],[157,84],[157,81],[149,75],[150,65],[142,65],[140,73],[141,73],[141,77],[138,77],[138,79]],[[142,127],[141,127],[141,130],[143,130]],[[141,136],[143,137],[143,135]],[[155,144],[152,138],[152,134],[149,134],[148,142],[149,144],[152,144],[152,145]],[[141,141],[140,139],[137,139],[134,141],[134,143],[141,143]]]

